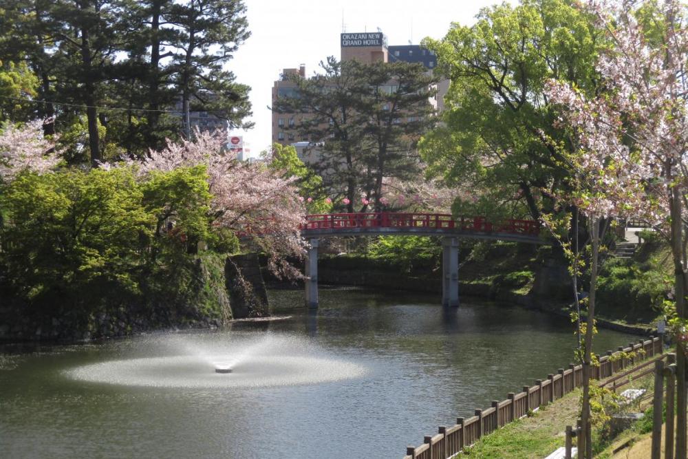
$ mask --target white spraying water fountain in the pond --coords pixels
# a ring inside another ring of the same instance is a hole
[[[92,383],[216,389],[326,383],[365,373],[361,365],[288,334],[162,335],[133,341],[125,355],[65,373]]]

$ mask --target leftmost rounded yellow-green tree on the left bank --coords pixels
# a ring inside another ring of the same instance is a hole
[[[128,169],[23,174],[0,200],[8,214],[2,256],[28,299],[56,295],[85,307],[89,292],[136,290],[131,266],[142,261],[151,228]]]

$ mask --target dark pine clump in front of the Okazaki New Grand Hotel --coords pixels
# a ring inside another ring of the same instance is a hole
[[[292,114],[291,129],[319,151],[312,167],[332,197],[345,198],[349,212],[361,197],[361,209],[365,202],[379,209],[383,178],[403,180],[419,171],[416,142],[433,122],[433,78],[409,63],[330,57],[321,67],[311,78],[286,75],[294,93],[279,97],[272,109]]]

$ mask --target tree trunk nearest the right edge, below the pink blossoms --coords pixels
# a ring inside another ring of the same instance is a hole
[[[686,270],[682,251],[681,196],[678,186],[669,195],[671,216],[671,255],[674,258],[676,314],[685,319]],[[676,459],[686,459],[686,357],[681,343],[682,330],[676,336]]]

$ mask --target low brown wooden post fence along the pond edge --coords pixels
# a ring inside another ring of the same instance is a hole
[[[600,356],[599,366],[593,367],[592,376],[603,379],[638,361],[662,353],[658,337],[649,337],[621,346],[616,352],[608,351]],[[638,352],[641,351],[642,352]],[[632,354],[634,353],[634,354]],[[440,427],[433,436],[425,436],[418,447],[407,447],[404,459],[447,459],[460,453],[466,446],[473,445],[480,437],[491,434],[513,420],[523,418],[529,411],[538,409],[561,398],[583,383],[583,365],[570,364],[568,369],[559,368],[557,374],[548,374],[546,379],[537,379],[535,385],[524,386],[522,392],[510,392],[504,401],[493,401],[488,409],[476,409],[471,418],[457,418],[452,427]]]

